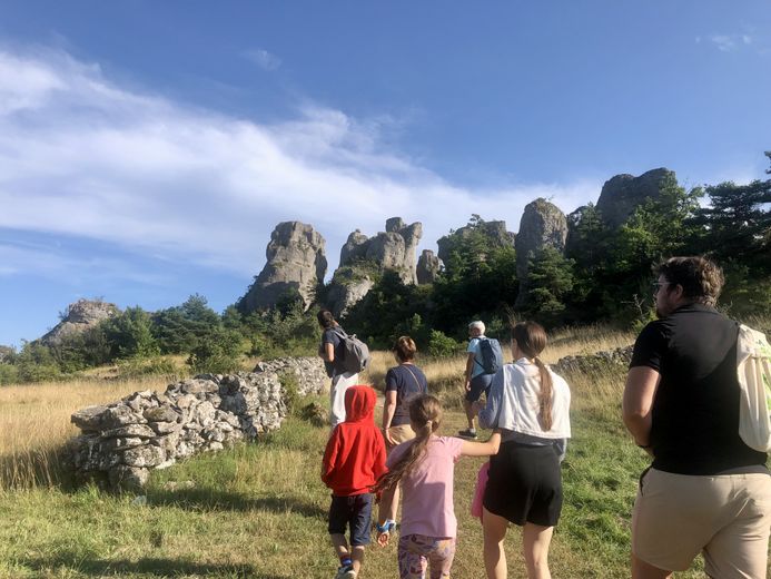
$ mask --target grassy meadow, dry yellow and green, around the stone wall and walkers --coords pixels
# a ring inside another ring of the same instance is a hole
[[[565,330],[545,357],[626,345],[633,336],[601,327]],[[393,360],[375,353],[368,381],[380,387]],[[462,357],[424,361],[445,403],[442,433],[464,428]],[[565,506],[554,534],[554,577],[629,577],[629,527],[644,453],[620,419],[623,371],[567,376],[573,440],[563,464]],[[329,493],[319,480],[327,430],[290,416],[256,443],[205,454],[155,472],[146,497],[72,488],[60,464],[76,429],[69,415],[169,380],[83,380],[0,389],[0,578],[332,578]],[[325,399],[319,399],[326,403]],[[379,411],[378,411],[379,413]],[[379,416],[377,416],[379,421]],[[379,423],[379,422],[378,422]],[[455,470],[458,544],[453,577],[484,577],[482,528],[469,514],[483,459]],[[506,539],[510,577],[525,577],[520,533]],[[678,577],[702,577],[701,562]],[[396,541],[373,546],[363,579],[396,577]]]

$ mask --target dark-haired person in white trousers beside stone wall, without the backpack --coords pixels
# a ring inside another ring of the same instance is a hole
[[[329,423],[334,429],[345,420],[345,391],[358,382],[358,373],[346,372],[343,366],[343,336],[345,331],[335,321],[332,312],[320,310],[316,314],[322,332],[322,344],[318,355],[324,360],[327,376],[332,379],[329,387]]]

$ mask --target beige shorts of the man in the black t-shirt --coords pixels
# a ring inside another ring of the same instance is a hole
[[[771,477],[694,477],[651,469],[632,513],[632,552],[668,571],[688,569],[699,552],[715,578],[765,577]]]

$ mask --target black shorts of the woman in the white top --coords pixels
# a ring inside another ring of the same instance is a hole
[[[554,527],[562,512],[562,474],[553,445],[504,442],[490,459],[490,479],[482,502],[514,524]]]

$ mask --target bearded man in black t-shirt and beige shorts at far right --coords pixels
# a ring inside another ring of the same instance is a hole
[[[704,257],[655,273],[659,320],[637,336],[623,396],[653,459],[632,512],[632,577],[670,577],[699,552],[710,577],[765,577],[771,475],[739,435],[739,325],[715,310],[723,273]]]

